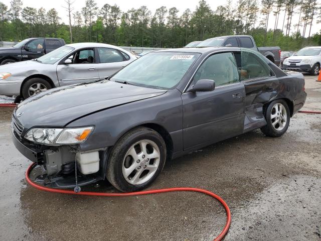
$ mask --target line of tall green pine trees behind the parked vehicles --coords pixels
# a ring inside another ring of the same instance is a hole
[[[101,42],[118,46],[183,47],[192,41],[234,34],[252,35],[258,46],[278,45],[297,50],[321,45],[321,34],[311,35],[318,23],[320,7],[316,0],[227,0],[212,10],[205,0],[195,11],[162,6],[152,14],[146,6],[122,12],[117,5],[98,7],[86,0],[81,9],[64,0],[68,23],[56,9],[23,8],[22,0],[10,6],[0,2],[0,41],[21,41],[29,37],[63,38],[66,43]],[[260,6],[260,7],[259,7]],[[294,19],[297,19],[296,23]],[[274,26],[273,29],[268,26]]]

